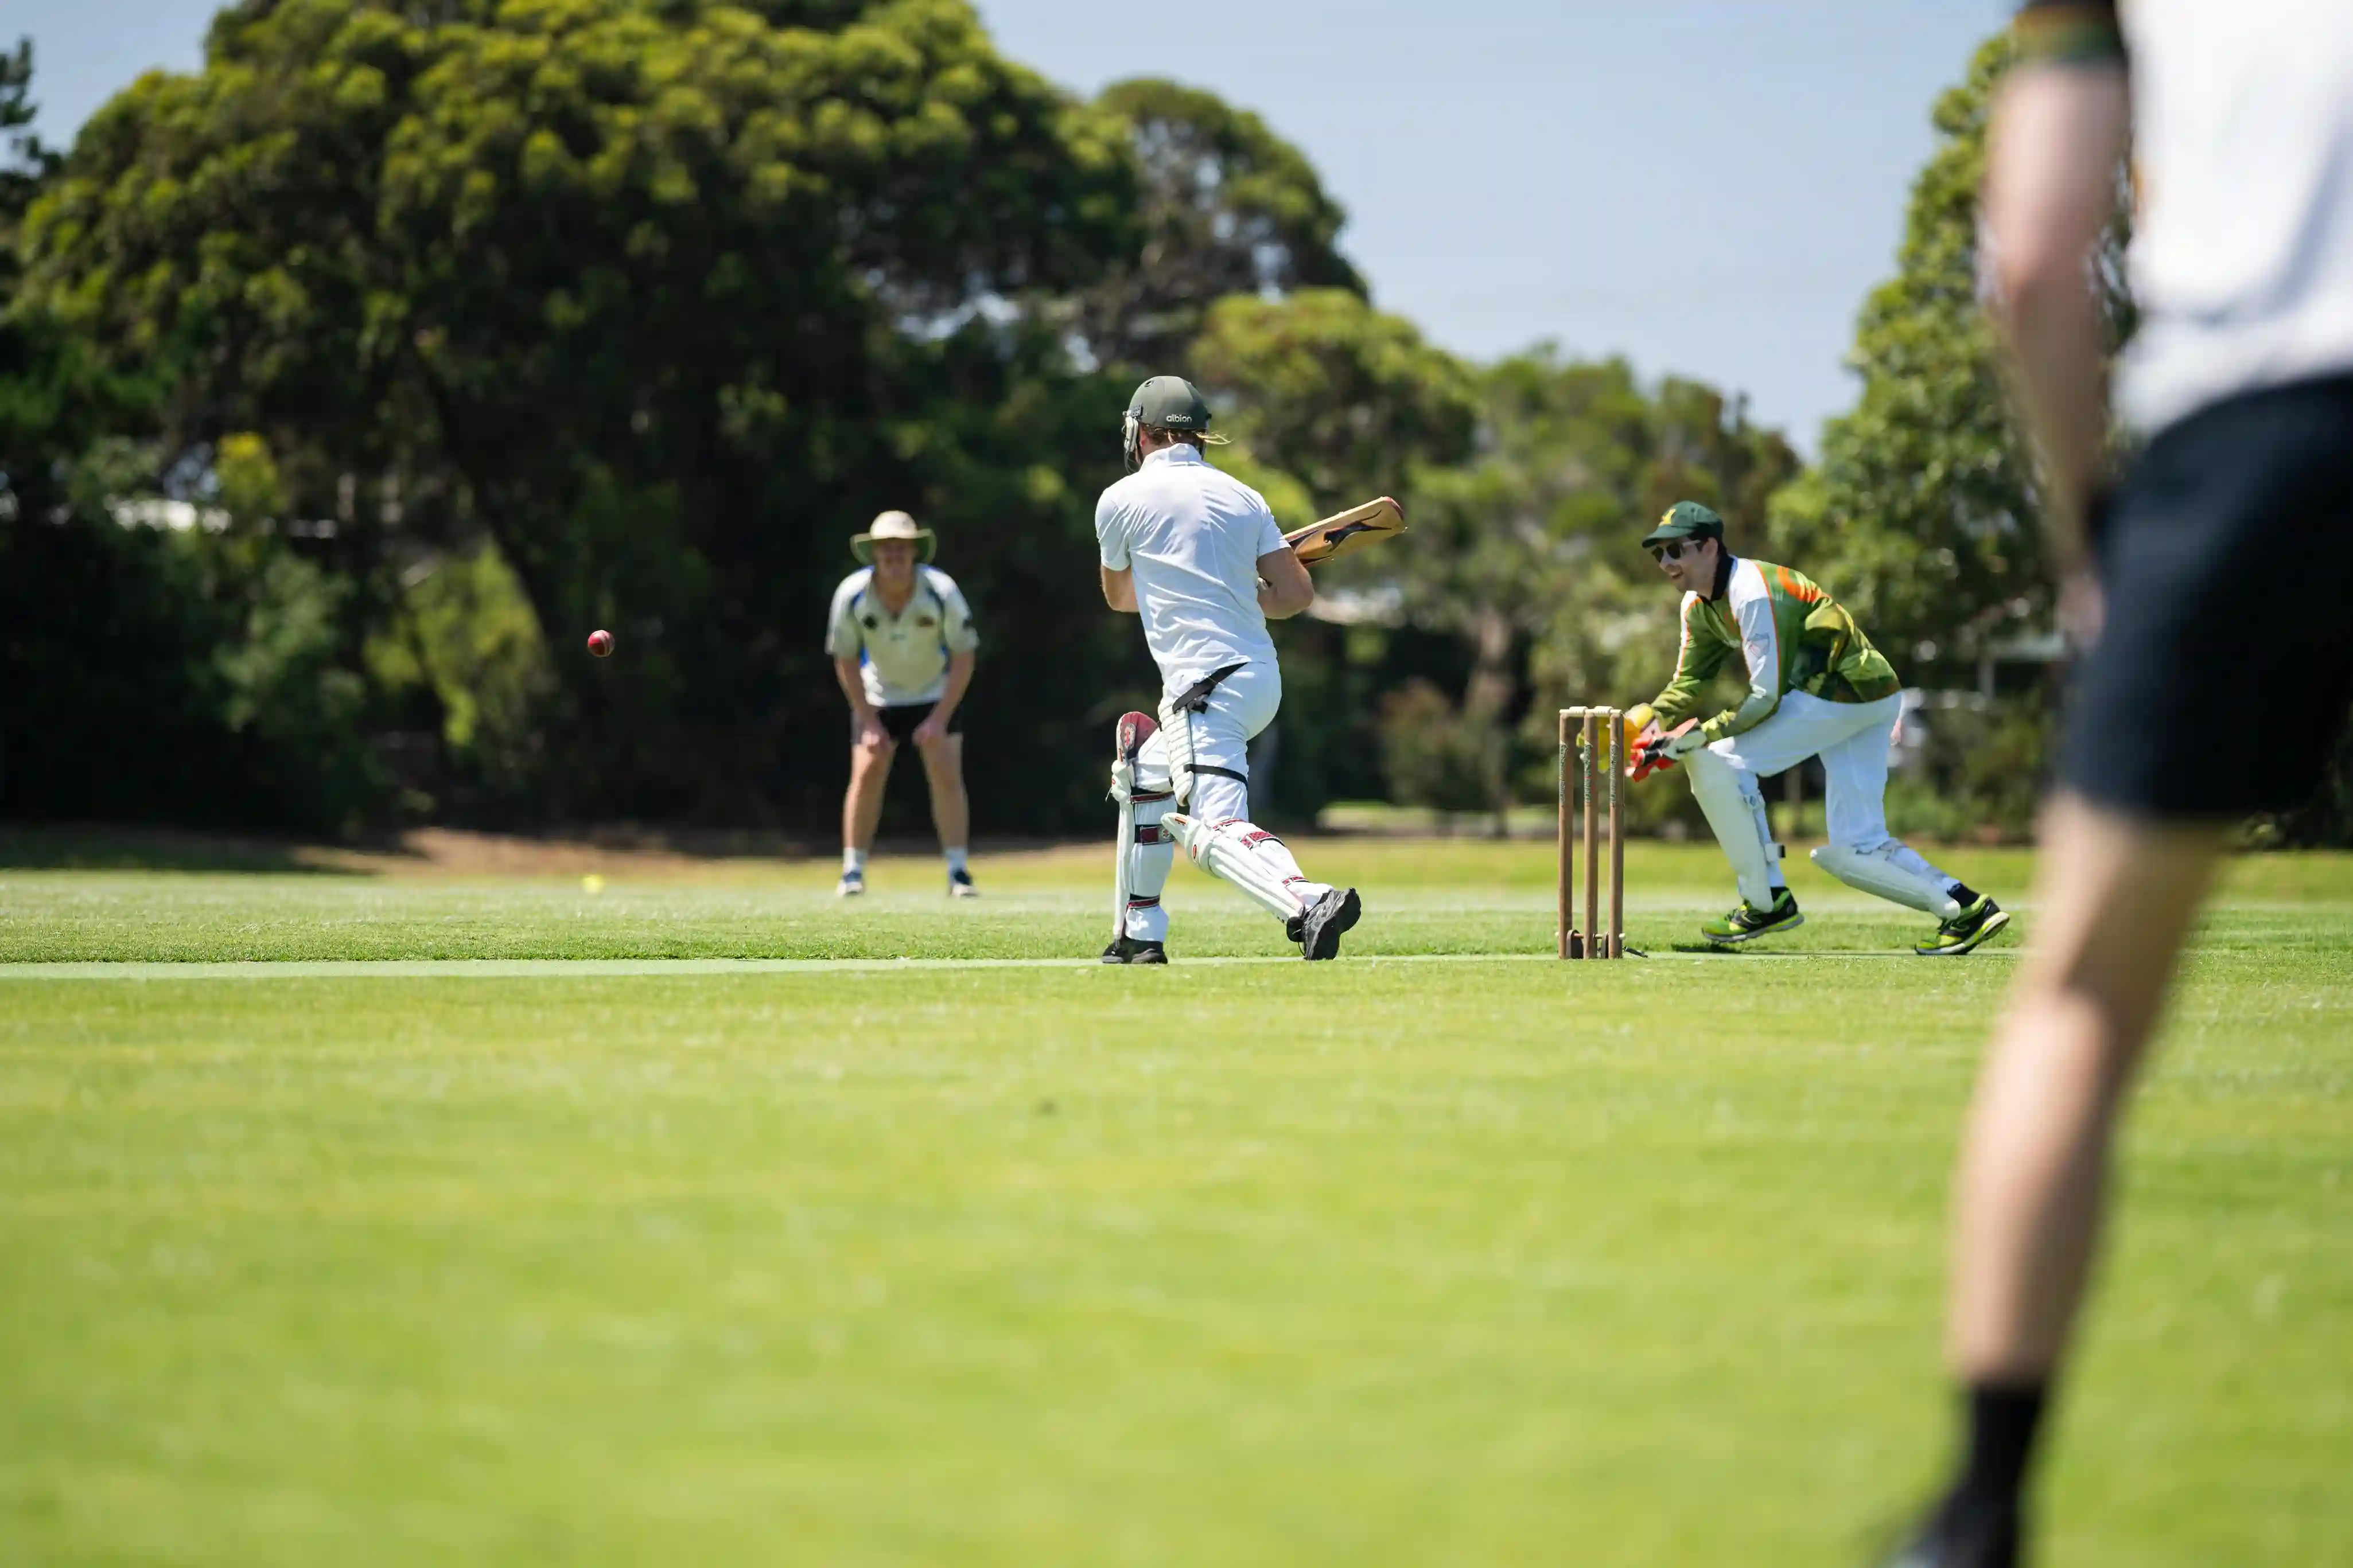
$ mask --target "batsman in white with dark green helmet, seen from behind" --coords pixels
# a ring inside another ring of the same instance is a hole
[[[1176,849],[1282,922],[1304,959],[1339,957],[1355,889],[1308,882],[1282,839],[1249,823],[1249,738],[1282,705],[1266,623],[1315,602],[1308,569],[1266,498],[1202,456],[1209,404],[1181,376],[1127,400],[1127,477],[1094,508],[1104,602],[1144,616],[1160,665],[1158,722],[1129,712],[1113,736],[1120,804],[1106,964],[1167,964],[1160,907]]]

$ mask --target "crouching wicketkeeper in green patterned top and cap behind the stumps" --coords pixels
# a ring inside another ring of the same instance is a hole
[[[1854,618],[1788,567],[1732,555],[1725,520],[1697,501],[1668,508],[1642,548],[1682,590],[1682,649],[1666,691],[1626,710],[1626,726],[1673,731],[1645,750],[1689,769],[1692,795],[1741,886],[1739,907],[1699,933],[1732,945],[1805,924],[1781,879],[1781,846],[1758,778],[1807,757],[1821,757],[1831,839],[1814,851],[1814,865],[1852,889],[1934,914],[1937,933],[1913,952],[1962,954],[2007,926],[2009,914],[1993,898],[1887,832],[1887,748],[1904,715],[1904,689]],[[1748,668],[1741,705],[1678,726],[1734,654]]]

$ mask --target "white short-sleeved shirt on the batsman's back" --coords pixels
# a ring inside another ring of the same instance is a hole
[[[1226,665],[1275,663],[1259,557],[1282,550],[1266,498],[1179,442],[1094,503],[1104,567],[1136,574],[1144,646],[1174,691]]]

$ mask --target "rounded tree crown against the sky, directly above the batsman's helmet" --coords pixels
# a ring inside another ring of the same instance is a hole
[[[1344,289],[1365,280],[1339,252],[1348,221],[1315,167],[1259,115],[1176,82],[1106,87],[1139,165],[1139,244],[1080,301],[1104,364],[1155,374],[1184,360],[1217,301]]]

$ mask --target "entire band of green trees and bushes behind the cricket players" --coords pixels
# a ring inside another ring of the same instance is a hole
[[[2021,830],[2049,588],[1974,223],[2005,49],[1934,106],[1859,402],[1800,473],[1706,383],[1424,341],[1264,120],[1158,80],[1075,101],[965,0],[238,5],[68,155],[19,47],[0,637],[42,679],[0,689],[0,811],[819,835],[821,609],[904,505],[984,628],[979,830],[1094,827],[1104,726],[1153,675],[1096,602],[1092,501],[1127,388],[1184,369],[1285,524],[1395,494],[1414,527],[1278,632],[1275,816],[1541,799],[1558,703],[1664,679],[1633,538],[1694,496],[1911,684],[1993,672],[1908,788]],[[595,625],[619,658],[581,654]],[[176,771],[125,769],[132,733]],[[2344,778],[2268,832],[2344,837]]]

